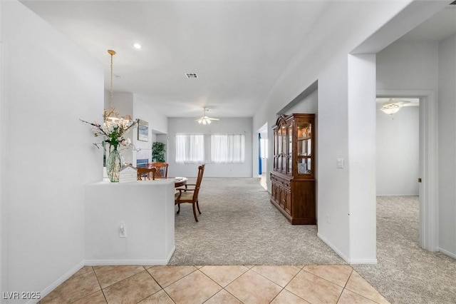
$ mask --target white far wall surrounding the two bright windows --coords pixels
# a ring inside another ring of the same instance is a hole
[[[210,125],[197,123],[194,118],[168,118],[168,146],[169,156],[168,176],[197,176],[197,164],[175,162],[175,136],[177,134],[204,134],[204,158],[206,167],[204,176],[207,177],[252,177],[252,142],[258,141],[258,134],[252,136],[252,118],[220,118]],[[210,163],[210,135],[211,134],[244,134],[245,135],[245,162],[244,163]],[[258,148],[258,145],[257,145]],[[258,153],[257,158],[258,159]]]

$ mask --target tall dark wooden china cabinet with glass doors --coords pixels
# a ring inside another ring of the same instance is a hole
[[[280,116],[272,128],[271,203],[291,224],[315,225],[315,114]]]

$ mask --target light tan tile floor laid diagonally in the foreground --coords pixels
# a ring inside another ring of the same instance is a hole
[[[45,303],[388,303],[349,265],[85,266]]]

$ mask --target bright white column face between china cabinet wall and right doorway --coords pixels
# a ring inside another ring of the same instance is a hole
[[[375,55],[348,55],[348,221],[350,263],[377,263]]]

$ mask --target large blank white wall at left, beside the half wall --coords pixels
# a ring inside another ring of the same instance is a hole
[[[83,262],[83,185],[102,178],[103,153],[79,118],[102,119],[103,68],[19,2],[2,1],[1,15],[1,291],[47,293]]]

